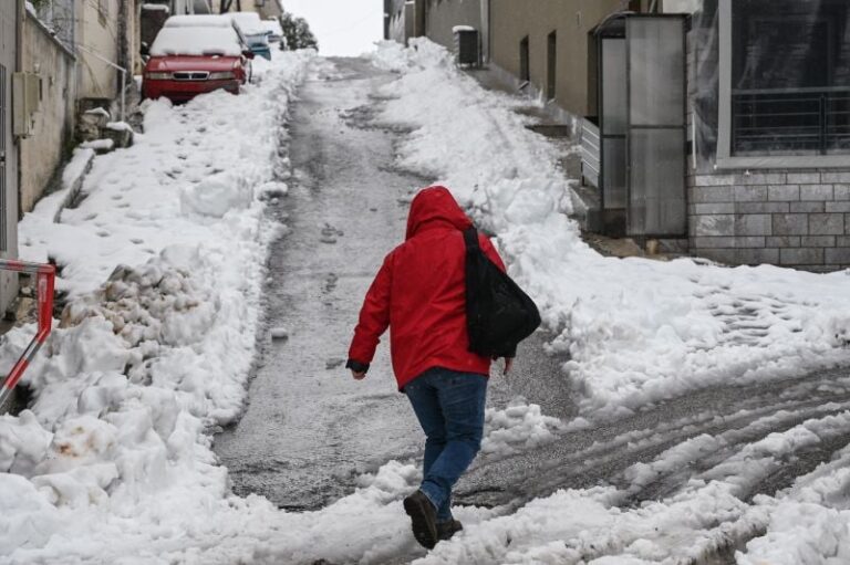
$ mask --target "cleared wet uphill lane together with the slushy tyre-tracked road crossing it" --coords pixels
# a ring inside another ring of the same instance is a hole
[[[386,348],[363,383],[342,366],[360,300],[403,236],[411,192],[428,182],[394,165],[407,130],[373,121],[385,104],[377,93],[393,80],[367,61],[319,60],[290,121],[294,178],[290,196],[271,208],[290,231],[273,244],[266,286],[268,326],[289,337],[262,342],[249,408],[216,444],[237,493],[289,510],[324,508],[351,494],[362,473],[394,459],[416,462],[422,449]],[[485,450],[458,484],[457,503],[509,515],[561,489],[612,485],[612,511],[641,512],[652,501],[698,501],[694,485],[712,480],[735,484],[733,500],[751,503],[842,457],[847,370],[736,378],[582,427],[573,420],[581,395],[560,369],[567,358],[545,353],[551,339],[535,335],[510,378],[494,374],[488,404],[500,409],[521,396],[573,423],[542,444]],[[660,514],[675,514],[675,503],[665,503]],[[732,527],[704,525],[714,541],[699,558],[733,563],[734,548],[764,533],[759,524],[739,516]]]

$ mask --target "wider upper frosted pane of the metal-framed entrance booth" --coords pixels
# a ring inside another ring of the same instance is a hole
[[[631,125],[683,125],[685,59],[682,20],[631,18],[626,30]]]

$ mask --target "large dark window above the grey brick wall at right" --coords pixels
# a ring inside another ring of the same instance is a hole
[[[847,0],[732,2],[730,154],[850,153]]]

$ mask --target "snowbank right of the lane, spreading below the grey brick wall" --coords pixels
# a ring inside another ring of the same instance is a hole
[[[414,128],[400,165],[450,187],[497,234],[511,275],[560,334],[554,348],[570,354],[582,416],[850,360],[850,272],[601,257],[566,217],[557,149],[525,128],[517,100],[481,88],[426,39],[380,43],[373,62],[401,73],[381,118]]]

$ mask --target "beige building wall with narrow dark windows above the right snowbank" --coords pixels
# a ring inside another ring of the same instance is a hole
[[[588,33],[620,0],[490,0],[490,63],[519,77],[519,44],[529,41],[529,74],[535,91],[546,92],[547,38],[557,34],[554,103],[574,116],[592,112],[588,100]]]

